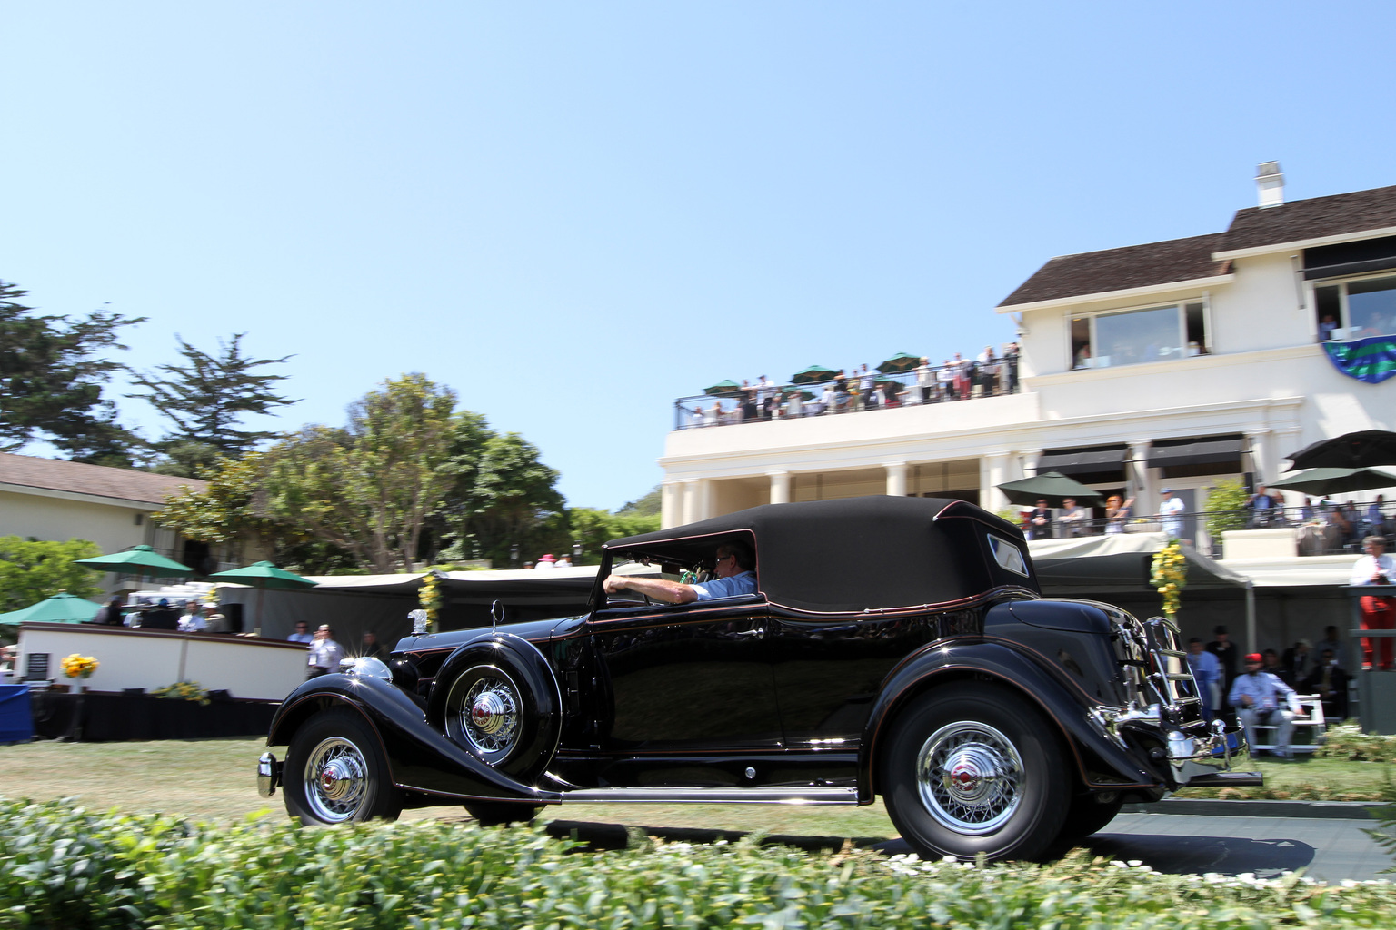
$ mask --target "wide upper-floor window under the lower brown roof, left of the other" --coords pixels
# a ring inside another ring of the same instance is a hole
[[[1208,354],[1202,301],[1071,319],[1071,367],[1115,368]]]

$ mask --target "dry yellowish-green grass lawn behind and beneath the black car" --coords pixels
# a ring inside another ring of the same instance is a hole
[[[162,813],[194,820],[233,820],[257,811],[282,816],[281,795],[255,791],[260,738],[149,743],[35,742],[0,746],[0,793],[49,800],[71,798],[88,809]],[[1182,798],[1276,798],[1379,800],[1386,765],[1300,757],[1255,760],[1241,768],[1265,772],[1259,789],[1185,789]],[[459,807],[403,813],[403,820],[451,820]],[[628,827],[734,830],[796,837],[892,838],[896,830],[878,802],[868,807],[790,805],[563,805],[544,820]]]

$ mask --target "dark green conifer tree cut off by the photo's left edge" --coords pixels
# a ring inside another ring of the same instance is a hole
[[[0,452],[46,441],[74,462],[131,466],[140,443],[116,421],[102,385],[123,371],[102,357],[123,326],[144,317],[96,311],[85,319],[40,317],[18,303],[25,291],[0,282]]]

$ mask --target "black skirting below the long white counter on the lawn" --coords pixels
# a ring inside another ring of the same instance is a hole
[[[34,692],[34,732],[47,739],[67,736],[91,743],[148,739],[264,736],[279,701],[198,701],[84,692]]]

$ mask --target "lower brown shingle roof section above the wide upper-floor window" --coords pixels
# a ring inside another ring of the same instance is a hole
[[[1224,275],[1227,262],[1212,258],[1222,240],[1222,233],[1212,233],[1103,252],[1061,255],[1037,269],[1000,307]]]

